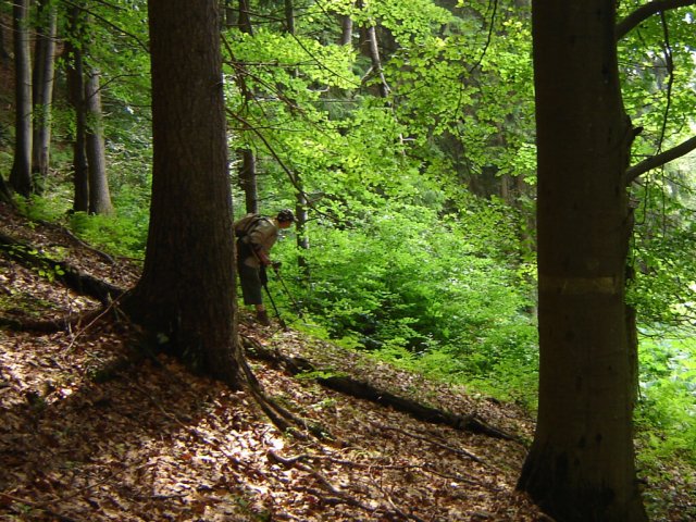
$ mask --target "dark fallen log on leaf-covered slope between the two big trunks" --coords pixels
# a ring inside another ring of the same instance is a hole
[[[286,356],[279,350],[269,349],[253,339],[245,337],[244,343],[249,357],[277,364],[291,375],[298,375],[300,373],[315,374],[314,381],[316,383],[335,391],[377,402],[383,406],[389,406],[395,410],[408,413],[421,421],[444,424],[456,430],[505,440],[518,439],[518,437],[492,426],[476,415],[459,415],[449,411],[424,406],[412,399],[399,397],[390,391],[378,389],[370,383],[358,381],[348,375],[327,375],[326,372],[322,372],[321,369],[315,368],[307,359]]]

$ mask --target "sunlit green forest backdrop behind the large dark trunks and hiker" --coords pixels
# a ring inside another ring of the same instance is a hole
[[[55,16],[59,36],[52,99],[34,116],[50,114],[50,161],[30,186],[15,186],[26,192],[20,204],[35,217],[66,221],[100,248],[142,259],[151,181],[145,2],[88,2],[78,17],[70,2],[38,5],[30,26],[51,27]],[[301,226],[274,249],[288,286],[274,288],[283,318],[534,409],[529,2],[243,5],[225,5],[221,27],[235,216],[254,207],[299,210]],[[1,9],[4,33],[12,12]],[[620,42],[624,103],[642,128],[636,161],[694,134],[693,29],[693,9],[676,9],[645,20]],[[101,107],[83,125],[103,138],[109,182],[102,200],[86,206],[73,177],[80,132],[69,96],[75,49],[99,82]],[[4,60],[8,67],[9,53]],[[3,89],[5,107],[14,95]],[[2,117],[0,172],[10,173],[16,127],[12,113]],[[636,435],[639,467],[654,473],[695,464],[695,161],[681,158],[631,187]]]

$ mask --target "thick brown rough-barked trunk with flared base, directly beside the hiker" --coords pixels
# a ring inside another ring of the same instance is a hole
[[[125,304],[195,369],[238,386],[217,0],[149,0],[153,172],[144,272]]]

